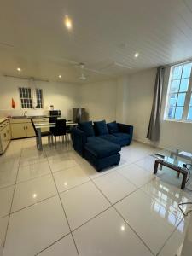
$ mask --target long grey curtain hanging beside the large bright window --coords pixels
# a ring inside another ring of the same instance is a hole
[[[157,142],[160,139],[160,110],[162,102],[163,79],[164,68],[158,67],[154,84],[154,101],[147,134],[147,138],[153,142]]]

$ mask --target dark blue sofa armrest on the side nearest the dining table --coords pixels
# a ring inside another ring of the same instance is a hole
[[[75,151],[77,151],[82,157],[84,157],[84,144],[87,143],[87,137],[84,131],[81,131],[79,128],[73,128],[72,142]]]

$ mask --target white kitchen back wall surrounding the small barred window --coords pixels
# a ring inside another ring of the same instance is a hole
[[[38,88],[43,89],[44,110],[28,110],[27,114],[47,113],[50,105],[55,109],[61,109],[61,114],[67,119],[72,118],[72,108],[79,108],[79,84],[67,84],[61,82],[35,82]],[[0,115],[20,115],[23,110],[20,108],[19,90],[20,86],[28,86],[27,79],[14,79],[0,77]],[[16,108],[11,108],[11,99],[15,100]]]

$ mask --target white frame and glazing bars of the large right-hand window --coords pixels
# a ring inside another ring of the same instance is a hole
[[[185,92],[186,96],[185,96],[185,100],[184,100],[182,119],[170,119],[170,118],[168,118],[169,107],[170,107],[169,106],[169,98],[170,98],[171,94],[174,94],[174,92],[171,92],[171,86],[172,86],[172,80],[173,80],[172,79],[173,70],[174,70],[175,67],[178,67],[178,66],[181,66],[181,65],[184,66],[185,64],[188,64],[188,63],[192,64],[192,61],[186,61],[186,62],[178,63],[178,64],[173,65],[171,67],[170,74],[169,74],[168,86],[167,86],[167,90],[166,90],[166,108],[165,108],[165,111],[164,111],[164,120],[166,120],[166,121],[192,123],[192,119],[188,119],[188,113],[189,113],[189,108],[190,108],[189,103],[190,103],[190,98],[192,96],[192,68],[191,68],[191,73],[190,73],[190,77],[189,77],[188,90]],[[183,67],[182,67],[182,73],[183,73]],[[180,83],[181,83],[182,74],[181,74],[181,78],[179,80],[180,80]],[[178,90],[175,94],[177,94],[177,96],[178,96],[179,93],[182,93],[182,92],[179,92],[179,90]],[[179,106],[176,105],[176,107],[179,107]]]

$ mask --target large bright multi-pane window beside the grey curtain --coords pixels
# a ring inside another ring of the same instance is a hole
[[[171,68],[166,100],[166,119],[192,121],[192,62]]]

